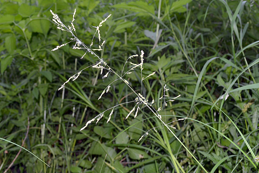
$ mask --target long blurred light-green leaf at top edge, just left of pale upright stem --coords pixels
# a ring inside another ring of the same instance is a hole
[[[148,5],[144,1],[132,1],[129,3],[120,3],[113,5],[115,8],[123,8],[133,12],[139,13],[138,15],[145,16],[150,14],[155,14],[155,9],[153,5]]]

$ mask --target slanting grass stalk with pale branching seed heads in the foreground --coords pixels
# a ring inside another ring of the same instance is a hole
[[[74,27],[74,20],[75,20],[75,13],[76,13],[76,9],[74,11],[74,14],[73,14],[73,19],[72,19],[72,22],[71,22],[71,26],[68,25],[68,27],[66,27],[66,25],[63,24],[63,22],[60,20],[60,18],[58,17],[57,14],[54,14],[52,12],[52,10],[50,10],[50,12],[52,13],[53,15],[53,21],[58,25],[58,29],[61,29],[62,31],[66,31],[66,32],[69,32],[71,33],[72,35],[72,38],[71,38],[71,41],[68,42],[68,43],[71,43],[73,42],[73,49],[85,49],[85,54],[87,52],[91,53],[94,57],[97,57],[98,58],[98,62],[97,63],[94,63],[88,67],[85,67],[84,69],[82,69],[81,71],[77,72],[76,74],[74,74],[73,76],[71,76],[66,82],[64,82],[64,84],[62,84],[62,86],[58,89],[62,89],[64,88],[65,84],[68,83],[71,79],[76,80],[79,75],[81,74],[81,72],[89,67],[92,67],[93,69],[100,69],[100,75],[103,75],[103,78],[106,78],[108,76],[110,76],[111,74],[117,76],[117,79],[115,79],[113,82],[111,82],[110,84],[108,84],[106,86],[106,88],[102,91],[100,97],[98,98],[101,99],[103,95],[105,95],[106,93],[108,93],[110,91],[110,87],[111,85],[115,82],[115,81],[122,81],[125,83],[125,85],[127,85],[129,87],[130,90],[133,91],[133,93],[135,94],[135,99],[132,100],[132,101],[128,101],[128,102],[125,102],[125,103],[122,103],[122,104],[127,104],[127,103],[135,103],[135,106],[129,111],[129,113],[127,114],[127,116],[125,117],[125,119],[127,119],[130,115],[134,116],[134,118],[136,118],[136,116],[138,115],[138,111],[140,109],[144,109],[144,108],[148,108],[156,117],[157,119],[159,119],[159,121],[162,122],[162,126],[165,126],[169,131],[170,133],[173,134],[173,136],[182,144],[182,146],[184,146],[184,148],[186,149],[186,151],[188,151],[188,153],[195,159],[195,161],[199,164],[199,166],[201,166],[201,168],[207,172],[205,170],[205,168],[203,168],[203,166],[201,165],[201,163],[194,157],[194,155],[191,153],[191,151],[188,150],[188,148],[180,141],[180,139],[174,134],[174,132],[172,131],[172,128],[174,129],[174,126],[173,125],[170,125],[171,123],[175,122],[175,121],[172,121],[170,123],[166,123],[162,120],[162,117],[161,115],[159,114],[159,111],[161,110],[161,108],[158,108],[156,109],[155,107],[153,107],[153,103],[155,102],[154,100],[152,100],[151,102],[148,101],[148,98],[145,98],[143,96],[143,80],[146,80],[148,79],[149,77],[155,75],[155,72],[147,75],[147,76],[143,76],[142,74],[142,70],[144,69],[143,67],[143,64],[144,64],[144,51],[141,50],[141,54],[140,54],[140,63],[133,63],[131,62],[130,60],[132,58],[135,58],[135,57],[138,57],[139,55],[138,54],[135,54],[135,55],[132,55],[130,57],[127,58],[127,60],[125,61],[124,63],[124,66],[123,66],[123,69],[121,70],[121,73],[117,73],[116,70],[113,69],[113,67],[109,66],[106,61],[104,59],[102,59],[102,57],[99,57],[98,54],[96,54],[94,51],[100,51],[101,54],[103,53],[102,52],[102,48],[105,44],[105,40],[102,41],[101,40],[101,35],[100,35],[100,27],[102,27],[102,24],[111,16],[108,15],[104,20],[102,20],[99,25],[97,27],[94,27],[96,28],[96,32],[94,33],[94,36],[93,36],[93,39],[92,39],[92,42],[89,46],[86,46],[85,43],[83,43],[78,37],[77,37],[77,34],[76,34],[76,29]],[[98,35],[98,48],[92,48],[92,46],[94,45],[94,37],[96,36],[96,34]],[[55,51],[55,50],[58,50],[59,48],[61,48],[62,46],[65,46],[66,44],[68,43],[65,43],[65,44],[61,44],[60,46],[57,46],[56,48],[52,49],[52,51]],[[81,59],[85,56],[85,54],[81,57]],[[129,69],[125,69],[125,66],[126,64],[129,64]],[[130,86],[130,81],[127,81],[125,79],[125,77],[128,75],[128,74],[131,74],[132,71],[134,70],[140,70],[140,75],[141,75],[141,91],[140,92],[137,92],[136,90],[133,89],[132,86]],[[104,75],[105,74],[105,75]],[[165,106],[167,106],[167,102],[168,101],[174,101],[174,99],[180,97],[180,95],[178,95],[177,97],[174,97],[172,99],[169,99],[169,100],[166,100],[166,97],[168,97],[168,95],[165,95],[165,91],[168,91],[169,89],[166,88],[166,84],[165,86],[163,87],[164,88],[164,94],[163,96],[161,96],[160,99],[158,99],[157,101],[160,101],[162,98],[163,98],[163,104],[164,104],[164,111],[165,111]],[[85,124],[84,127],[82,127],[80,129],[83,130],[85,129],[88,125],[90,125],[92,122],[94,122],[96,120],[96,124],[102,119],[103,116],[105,116],[105,114],[109,114],[109,117],[108,117],[108,120],[106,123],[108,123],[111,119],[111,116],[113,115],[113,111],[114,111],[114,108],[116,108],[117,106],[120,106],[122,104],[118,104],[116,106],[113,106],[111,108],[108,108],[107,110],[101,112],[100,114],[98,114],[97,116],[95,116],[94,118],[92,118],[91,120],[87,121],[87,123]],[[107,113],[106,113],[107,112]],[[187,118],[181,118],[181,119],[178,119],[176,121],[180,121],[180,120],[184,120],[184,119],[187,119]],[[154,130],[156,131],[156,128],[157,127],[153,127],[152,129],[148,130],[146,133],[144,133],[144,135],[148,135],[148,132],[151,131],[151,130]],[[157,131],[156,131],[157,132]],[[138,140],[138,142],[144,137],[144,135],[142,135],[140,137],[140,139]]]

